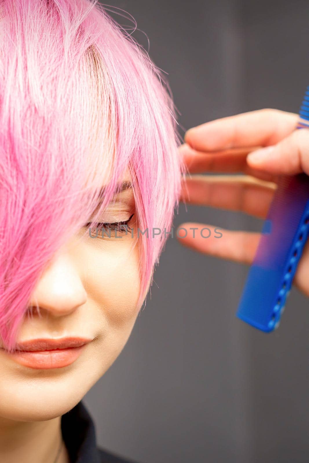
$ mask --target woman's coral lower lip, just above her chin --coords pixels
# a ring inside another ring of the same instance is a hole
[[[33,369],[63,368],[76,361],[85,345],[68,349],[6,352],[6,355],[20,365]]]

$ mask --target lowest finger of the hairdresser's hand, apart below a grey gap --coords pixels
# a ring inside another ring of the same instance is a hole
[[[252,263],[260,236],[260,233],[230,231],[195,222],[183,223],[177,228],[177,239],[184,246],[209,256],[248,264]]]

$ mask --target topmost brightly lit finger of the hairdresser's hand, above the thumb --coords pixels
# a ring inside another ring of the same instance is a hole
[[[216,119],[189,129],[184,140],[199,151],[275,144],[296,127],[297,114],[261,109]]]

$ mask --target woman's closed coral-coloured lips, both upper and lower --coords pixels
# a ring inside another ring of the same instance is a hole
[[[75,362],[91,342],[89,338],[32,339],[17,343],[14,352],[4,354],[20,365],[33,369],[63,368]]]

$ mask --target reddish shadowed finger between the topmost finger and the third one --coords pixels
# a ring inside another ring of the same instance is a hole
[[[259,147],[255,147],[258,149]],[[189,173],[202,172],[243,172],[247,175],[266,181],[277,181],[277,176],[253,169],[246,162],[246,157],[253,148],[240,148],[204,153],[196,151],[188,144],[179,146],[179,154],[183,157]]]

